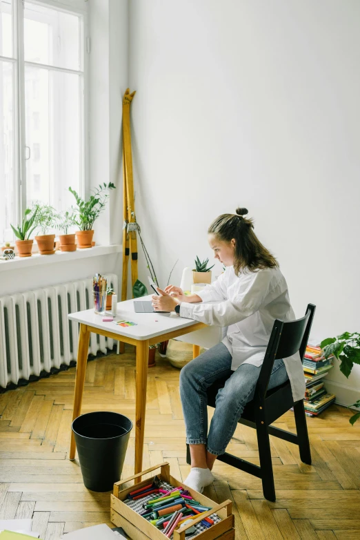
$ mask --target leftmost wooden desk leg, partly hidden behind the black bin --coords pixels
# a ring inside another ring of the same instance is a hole
[[[72,420],[74,421],[81,412],[81,401],[83,401],[83,385],[85,384],[86,365],[88,363],[90,332],[86,325],[80,325],[79,345],[77,349],[77,372],[75,375],[75,395],[74,408],[72,409]],[[75,459],[75,438],[71,431],[69,459]]]

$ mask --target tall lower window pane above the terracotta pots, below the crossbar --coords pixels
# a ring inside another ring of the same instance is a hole
[[[68,187],[81,186],[82,76],[26,66],[26,191],[28,206],[40,200],[65,210]],[[35,119],[35,121],[34,121]]]

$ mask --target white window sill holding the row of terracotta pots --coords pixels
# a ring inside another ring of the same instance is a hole
[[[89,249],[77,249],[77,251],[66,252],[56,251],[54,255],[40,255],[33,253],[31,257],[15,257],[12,260],[0,262],[0,273],[3,271],[14,271],[27,267],[37,267],[43,264],[57,264],[59,262],[70,262],[74,260],[87,259],[89,257],[99,257],[101,255],[111,255],[112,253],[121,253],[120,244],[112,246],[94,246]]]

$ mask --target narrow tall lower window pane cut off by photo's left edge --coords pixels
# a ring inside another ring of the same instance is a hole
[[[0,241],[14,224],[14,66],[0,61]]]

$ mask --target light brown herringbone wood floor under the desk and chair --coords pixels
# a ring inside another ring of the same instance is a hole
[[[109,494],[84,488],[79,463],[68,461],[74,369],[0,396],[0,519],[33,517],[41,539],[109,522]],[[134,420],[134,348],[122,356],[88,363],[83,412],[112,410]],[[332,406],[308,418],[312,465],[299,460],[297,447],[272,438],[277,502],[263,499],[261,482],[215,463],[217,481],[206,494],[232,499],[237,539],[360,539],[360,422]],[[294,430],[292,413],[279,427]],[[143,468],[169,461],[184,479],[185,430],[179,399],[179,371],[157,357],[149,370]],[[228,450],[259,463],[254,430],[239,426]],[[133,474],[134,433],[123,478]],[[109,523],[110,524],[110,523]]]

